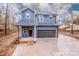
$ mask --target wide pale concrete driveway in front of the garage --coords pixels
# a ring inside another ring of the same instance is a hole
[[[58,39],[40,38],[33,46],[19,44],[12,56],[77,56],[79,40],[59,34]]]

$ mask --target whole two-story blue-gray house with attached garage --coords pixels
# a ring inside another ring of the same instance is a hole
[[[22,20],[16,25],[21,30],[22,37],[57,38],[57,14],[51,11],[36,12],[30,8],[21,11]]]

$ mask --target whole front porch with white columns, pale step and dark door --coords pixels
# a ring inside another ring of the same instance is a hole
[[[18,41],[36,41],[36,26],[18,26]]]

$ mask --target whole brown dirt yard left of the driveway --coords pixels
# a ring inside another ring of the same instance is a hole
[[[9,56],[16,48],[17,33],[0,38],[0,56]]]

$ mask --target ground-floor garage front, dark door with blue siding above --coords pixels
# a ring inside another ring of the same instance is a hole
[[[57,27],[37,27],[37,38],[55,38],[57,32]]]

